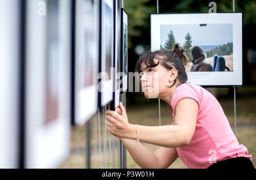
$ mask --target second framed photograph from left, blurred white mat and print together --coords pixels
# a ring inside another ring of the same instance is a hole
[[[57,168],[70,154],[71,2],[28,0],[26,9],[24,168]]]

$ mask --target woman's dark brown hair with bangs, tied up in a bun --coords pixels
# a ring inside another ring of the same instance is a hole
[[[175,68],[177,70],[177,77],[171,86],[175,85],[178,80],[180,83],[185,83],[188,80],[187,73],[185,72],[185,66],[188,63],[188,57],[183,53],[184,49],[175,44],[174,49],[160,49],[158,51],[147,51],[141,57],[139,57],[137,64],[135,66],[135,72],[141,73],[141,64],[144,62],[146,68],[152,68],[157,66],[159,63],[164,66],[164,68],[171,70]],[[155,60],[158,62],[155,63]],[[144,69],[146,69],[144,68]]]

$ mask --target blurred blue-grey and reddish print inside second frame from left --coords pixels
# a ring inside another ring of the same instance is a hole
[[[46,121],[59,114],[59,1],[47,2]]]

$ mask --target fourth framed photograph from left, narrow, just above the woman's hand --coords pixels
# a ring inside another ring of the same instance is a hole
[[[101,63],[98,79],[100,82],[100,104],[106,106],[113,100],[114,85],[114,15],[113,0],[101,1]]]

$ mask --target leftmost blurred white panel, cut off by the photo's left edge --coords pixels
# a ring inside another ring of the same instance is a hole
[[[19,168],[21,1],[0,1],[0,169]]]

